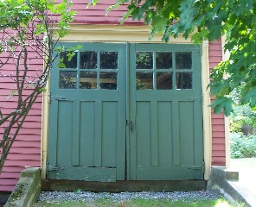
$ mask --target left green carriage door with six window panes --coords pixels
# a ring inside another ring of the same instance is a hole
[[[77,45],[51,72],[48,179],[125,179],[125,44]]]

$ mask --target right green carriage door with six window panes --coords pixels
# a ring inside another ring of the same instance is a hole
[[[129,179],[203,179],[200,47],[130,47]]]

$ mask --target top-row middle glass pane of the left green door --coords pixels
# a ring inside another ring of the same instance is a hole
[[[80,53],[80,68],[96,69],[97,68],[97,53],[96,52],[81,52]]]

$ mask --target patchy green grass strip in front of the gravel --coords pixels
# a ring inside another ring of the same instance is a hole
[[[222,198],[210,200],[196,200],[196,201],[171,201],[168,199],[130,199],[124,202],[113,202],[111,199],[100,198],[91,203],[83,203],[79,201],[66,201],[61,203],[38,202],[34,207],[42,206],[60,206],[60,207],[242,207],[240,205],[231,205]]]

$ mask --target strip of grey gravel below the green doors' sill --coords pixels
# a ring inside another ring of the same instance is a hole
[[[174,192],[90,192],[90,191],[42,191],[38,201],[83,201],[93,202],[98,198],[111,199],[112,201],[125,201],[132,198],[144,198],[144,199],[170,199],[176,200],[206,200],[215,199],[216,197],[209,191],[174,191]]]

